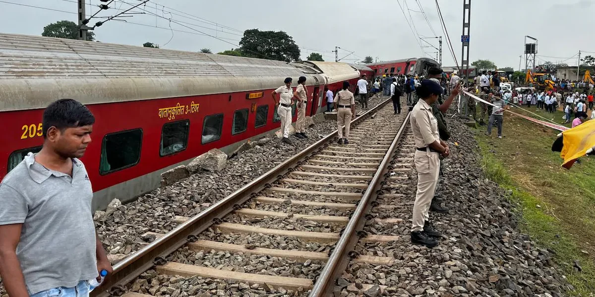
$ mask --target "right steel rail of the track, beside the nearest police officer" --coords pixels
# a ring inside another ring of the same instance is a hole
[[[399,140],[407,127],[409,116],[411,116],[411,113],[408,113],[405,120],[403,120],[399,132],[395,135],[393,143],[390,145],[389,150],[378,166],[374,178],[372,178],[368,188],[365,189],[362,199],[358,202],[358,207],[353,211],[353,214],[349,219],[349,222],[347,222],[347,226],[343,230],[339,241],[337,241],[332,254],[328,257],[327,263],[324,265],[324,268],[322,268],[320,276],[318,276],[314,283],[314,287],[312,287],[312,290],[308,295],[309,297],[323,297],[330,295],[331,290],[334,288],[334,280],[339,277],[347,267],[347,261],[343,261],[343,259],[346,257],[357,256],[355,252],[353,252],[353,247],[355,247],[360,237],[365,236],[363,227],[365,225],[366,214],[372,207],[372,202],[378,197],[378,192],[383,185],[385,175],[389,171],[388,165],[392,159],[394,150],[397,147],[397,143],[399,143]]]

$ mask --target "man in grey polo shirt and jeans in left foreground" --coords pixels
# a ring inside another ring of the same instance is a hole
[[[95,118],[72,99],[43,112],[43,148],[0,184],[0,275],[10,297],[84,297],[87,280],[112,272],[91,210],[93,190],[79,159]]]

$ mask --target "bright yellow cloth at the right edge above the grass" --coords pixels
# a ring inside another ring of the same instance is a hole
[[[588,149],[595,147],[595,120],[586,121],[562,132],[562,143],[562,166],[570,168],[575,160],[587,154]]]

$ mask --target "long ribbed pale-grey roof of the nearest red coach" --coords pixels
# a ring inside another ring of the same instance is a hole
[[[273,89],[300,76],[325,83],[282,61],[0,34],[0,111]]]

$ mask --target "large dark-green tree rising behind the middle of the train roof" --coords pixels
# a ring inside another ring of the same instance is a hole
[[[299,47],[293,38],[283,31],[246,30],[240,40],[240,46],[243,55],[251,58],[299,61]]]

